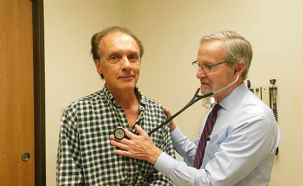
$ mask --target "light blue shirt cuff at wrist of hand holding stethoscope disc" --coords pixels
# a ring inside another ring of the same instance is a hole
[[[173,166],[177,163],[178,161],[173,159],[168,154],[162,152],[154,164],[154,168],[156,168],[159,172],[162,172],[164,175],[168,176]]]

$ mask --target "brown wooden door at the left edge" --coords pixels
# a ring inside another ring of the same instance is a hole
[[[0,0],[0,186],[35,185],[32,27],[30,0]]]

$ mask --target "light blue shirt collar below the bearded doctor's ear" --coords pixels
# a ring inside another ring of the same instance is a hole
[[[236,103],[247,93],[244,82],[236,87],[231,93],[224,97],[219,104],[227,111],[230,111]]]

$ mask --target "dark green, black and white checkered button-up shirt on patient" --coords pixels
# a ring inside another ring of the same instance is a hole
[[[136,124],[146,132],[166,119],[157,102],[142,95],[140,115]],[[57,186],[171,186],[168,178],[153,164],[120,156],[110,144],[109,135],[122,126],[129,129],[123,109],[116,103],[106,85],[96,93],[69,105],[61,119],[56,164]],[[130,129],[134,134],[134,126]],[[169,126],[165,125],[151,135],[154,144],[175,158]]]

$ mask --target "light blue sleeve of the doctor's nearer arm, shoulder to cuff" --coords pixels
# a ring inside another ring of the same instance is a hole
[[[154,167],[176,186],[235,185],[274,153],[271,147],[275,141],[273,125],[265,115],[253,114],[236,122],[226,139],[214,144],[216,153],[210,153],[213,158],[205,168],[189,167],[164,152]]]

